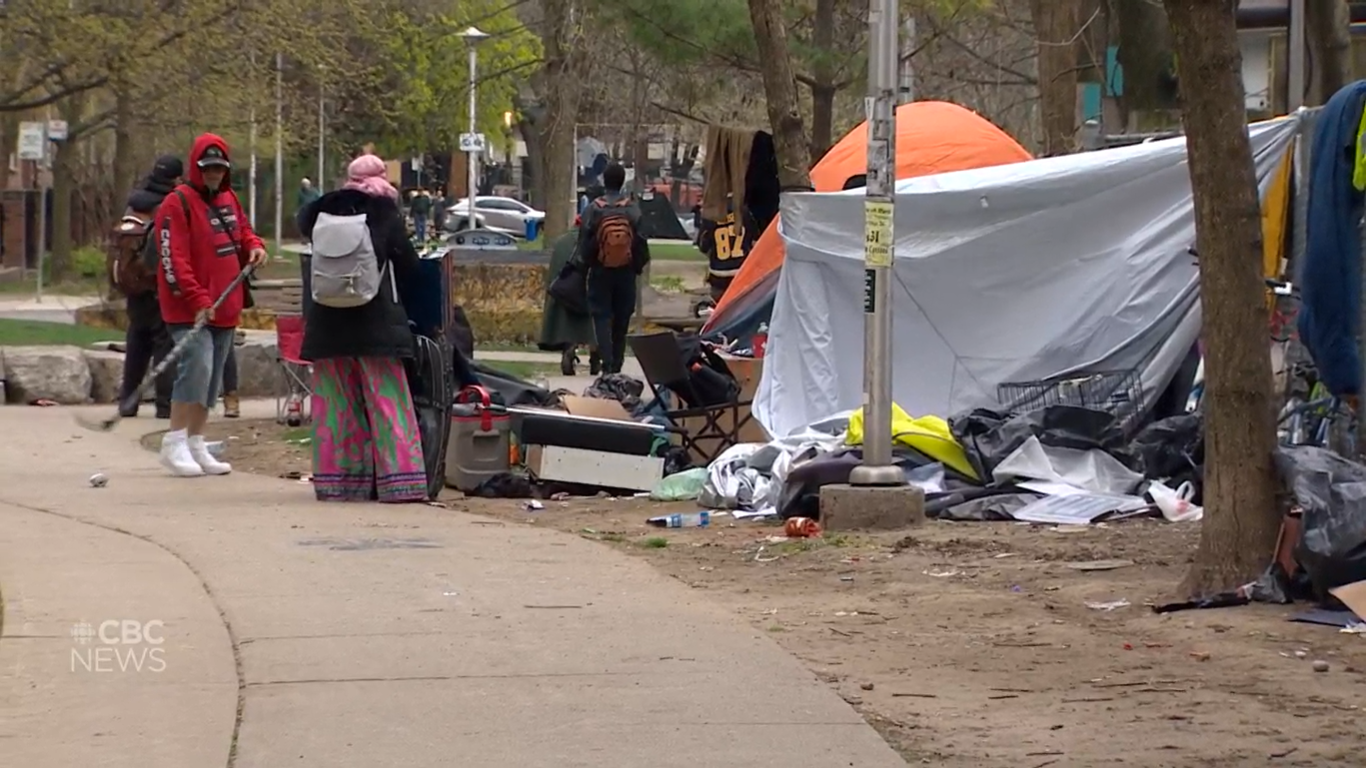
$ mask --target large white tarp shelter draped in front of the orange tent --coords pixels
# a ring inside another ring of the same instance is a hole
[[[1296,126],[1250,128],[1264,190]],[[863,190],[783,195],[780,232],[754,402],[779,436],[862,403]],[[1003,383],[1138,369],[1152,402],[1199,333],[1194,245],[1184,138],[899,182],[893,399],[948,417]]]

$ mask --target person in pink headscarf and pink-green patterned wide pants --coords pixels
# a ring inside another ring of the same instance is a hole
[[[398,288],[419,266],[398,201],[384,160],[362,154],[351,161],[342,189],[299,213],[303,236],[317,239],[314,260],[350,264],[348,254],[366,254],[369,235],[380,276],[374,297],[359,306],[329,298],[325,284],[335,287],[335,280],[320,264],[311,265],[305,290],[302,357],[313,362],[314,381],[313,492],[322,502],[426,500],[422,440],[404,369],[414,355],[413,331]]]

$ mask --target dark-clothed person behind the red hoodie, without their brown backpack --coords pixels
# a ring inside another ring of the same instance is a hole
[[[184,165],[173,154],[157,157],[156,165],[138,186],[128,193],[124,223],[130,217],[138,223],[149,224],[156,215],[161,201],[171,190],[180,183],[184,175]],[[142,249],[145,235],[131,243],[135,247],[137,268],[142,268]],[[117,264],[117,262],[113,262]],[[171,335],[161,321],[161,306],[157,302],[156,273],[143,268],[145,275],[111,275],[115,284],[123,291],[128,312],[128,331],[124,335],[123,383],[119,387],[119,415],[133,418],[138,415],[138,403],[128,403],[128,398],[142,385],[142,379],[153,364],[160,364],[171,351]],[[156,409],[157,418],[171,418],[171,387],[175,383],[175,370],[165,370],[156,381]]]

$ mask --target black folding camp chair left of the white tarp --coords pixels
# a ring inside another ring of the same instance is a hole
[[[627,339],[641,372],[664,409],[669,430],[679,435],[690,456],[710,463],[723,451],[740,441],[739,435],[751,421],[750,400],[736,396],[732,402],[703,406],[705,402],[684,359],[684,346],[672,331],[637,333]],[[725,364],[720,362],[720,373]],[[736,385],[736,392],[738,392]],[[678,407],[675,407],[678,400]]]

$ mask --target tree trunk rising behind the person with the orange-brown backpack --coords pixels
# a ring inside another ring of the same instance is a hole
[[[545,49],[545,126],[542,127],[545,179],[545,242],[570,228],[574,194],[574,126],[579,112],[579,85],[574,44],[574,0],[545,0],[541,45]]]

